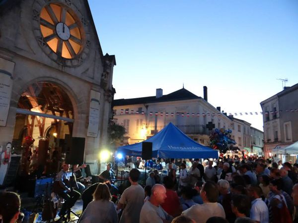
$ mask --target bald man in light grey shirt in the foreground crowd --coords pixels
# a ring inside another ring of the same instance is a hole
[[[140,223],[170,223],[173,217],[168,215],[160,206],[164,203],[165,198],[165,187],[161,184],[155,184],[151,189],[150,199],[142,207]]]

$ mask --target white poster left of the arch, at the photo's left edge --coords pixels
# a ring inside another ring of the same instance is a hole
[[[5,126],[12,91],[14,62],[0,58],[0,126]]]

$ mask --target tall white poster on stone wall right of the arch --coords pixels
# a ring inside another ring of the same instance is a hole
[[[91,90],[87,136],[97,137],[99,126],[100,93]]]

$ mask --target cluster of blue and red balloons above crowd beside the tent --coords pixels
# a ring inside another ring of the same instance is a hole
[[[219,150],[221,153],[225,153],[231,145],[235,145],[236,142],[231,138],[232,130],[224,130],[224,128],[212,131],[210,138],[210,146],[213,149]]]

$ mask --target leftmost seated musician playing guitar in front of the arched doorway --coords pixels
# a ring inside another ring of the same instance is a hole
[[[67,209],[72,208],[76,200],[80,197],[79,192],[71,189],[71,174],[72,172],[70,171],[70,165],[64,164],[53,183],[53,192],[58,194],[59,197],[65,199],[65,202],[62,205],[61,211],[59,213],[60,219],[57,220],[57,222],[63,222]]]

